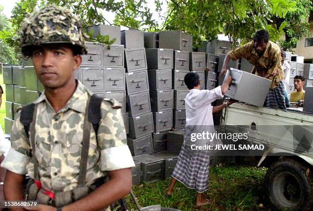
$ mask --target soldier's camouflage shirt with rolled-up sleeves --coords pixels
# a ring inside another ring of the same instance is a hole
[[[41,185],[45,190],[70,191],[77,186],[85,108],[88,96],[91,95],[92,93],[78,81],[73,96],[57,113],[44,92],[34,101],[37,104],[35,156],[39,164]],[[107,175],[107,171],[135,166],[127,146],[121,109],[113,108],[116,105],[120,104],[113,99],[102,101],[98,144],[91,126],[87,185]],[[31,146],[19,115],[20,112],[11,132],[12,148],[2,167],[17,174],[29,174],[34,178]]]

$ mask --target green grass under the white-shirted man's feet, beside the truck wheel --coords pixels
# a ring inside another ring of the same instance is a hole
[[[177,182],[172,196],[166,196],[170,179],[142,183],[132,188],[142,207],[161,204],[181,210],[216,210],[243,211],[267,210],[264,190],[265,168],[256,167],[214,167],[210,169],[210,190],[205,196],[210,204],[201,208],[195,207],[196,192]],[[126,202],[132,209],[136,209],[130,196]]]

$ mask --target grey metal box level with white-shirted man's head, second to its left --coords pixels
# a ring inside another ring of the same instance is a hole
[[[172,69],[149,69],[148,79],[150,90],[171,89]]]

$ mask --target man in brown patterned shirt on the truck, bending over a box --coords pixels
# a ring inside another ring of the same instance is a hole
[[[254,35],[253,41],[244,44],[228,53],[220,76],[226,74],[229,60],[247,59],[254,65],[252,74],[272,80],[264,106],[286,110],[284,94],[284,72],[281,66],[281,51],[277,44],[269,41],[269,32],[260,30]],[[257,96],[256,96],[257,98]]]

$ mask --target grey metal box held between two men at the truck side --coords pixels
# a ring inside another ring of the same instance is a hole
[[[230,68],[230,70],[233,81],[225,96],[255,106],[263,106],[272,81],[239,69]],[[229,72],[225,78],[228,78]]]

